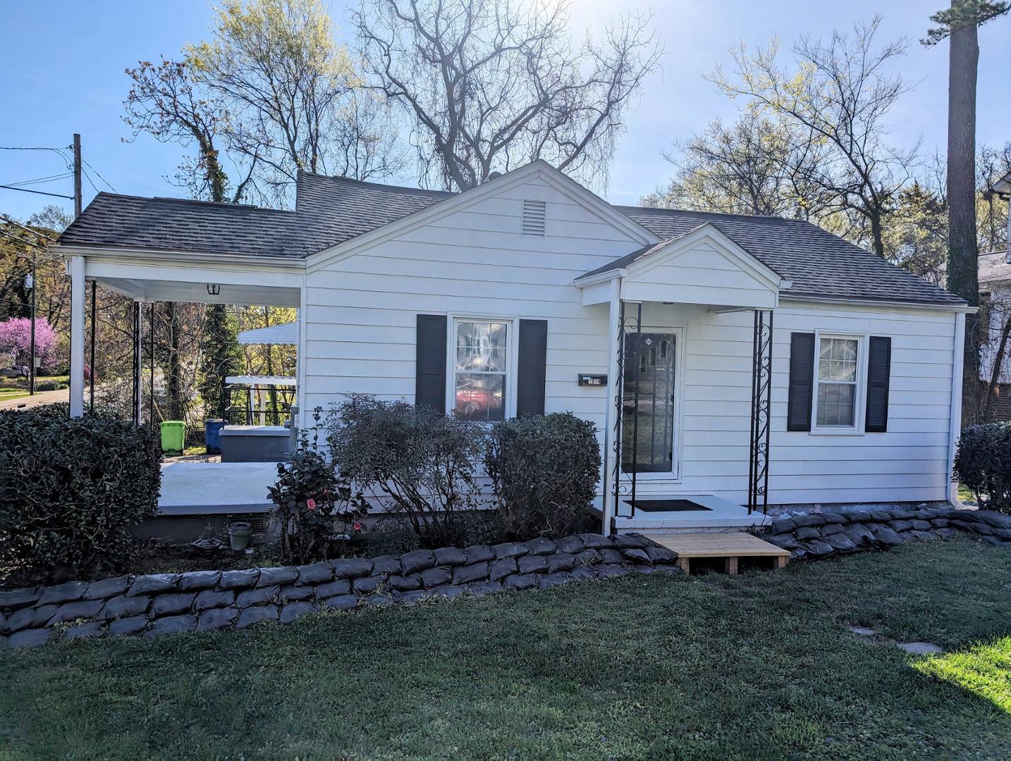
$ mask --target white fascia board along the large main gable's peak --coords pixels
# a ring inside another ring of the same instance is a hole
[[[431,206],[416,211],[412,214],[401,216],[399,219],[394,219],[368,232],[363,232],[336,246],[331,246],[330,248],[310,254],[305,259],[306,272],[315,272],[352,254],[361,253],[404,232],[417,229],[426,224],[431,224],[433,221],[452,214],[454,211],[459,211],[482,198],[500,193],[503,190],[509,190],[516,185],[521,185],[534,178],[544,180],[556,190],[568,195],[574,201],[586,205],[590,211],[604,217],[620,229],[623,229],[633,240],[642,241],[643,245],[655,243],[658,240],[655,234],[618,211],[604,199],[590,193],[579,185],[579,183],[566,177],[547,162],[537,160],[512,172],[508,172],[500,177],[487,180],[462,193],[457,193],[442,201],[437,201]]]

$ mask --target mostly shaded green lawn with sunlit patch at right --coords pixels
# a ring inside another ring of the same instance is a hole
[[[959,540],[63,643],[0,655],[0,757],[1007,758],[1009,635]]]

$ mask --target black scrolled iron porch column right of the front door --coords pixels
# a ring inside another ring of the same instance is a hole
[[[769,408],[772,388],[772,310],[754,310],[751,346],[751,437],[748,462],[748,514],[768,507]]]

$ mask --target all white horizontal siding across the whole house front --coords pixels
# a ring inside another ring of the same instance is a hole
[[[543,237],[520,234],[524,198],[547,201]],[[303,307],[305,408],[352,391],[412,400],[418,313],[546,318],[546,411],[568,410],[601,430],[606,390],[579,387],[576,375],[607,372],[608,306],[582,306],[572,280],[640,246],[567,195],[532,181],[311,272]],[[692,267],[680,271],[656,268],[654,281],[696,282],[691,275],[700,284],[733,285],[727,279],[738,271],[711,253],[685,255],[681,264]],[[682,429],[679,479],[642,478],[640,493],[745,502],[751,312],[647,303],[643,321],[646,330],[683,331]],[[953,315],[915,309],[776,309],[769,503],[945,499],[954,322]],[[790,334],[814,329],[892,338],[888,433],[786,431]]]

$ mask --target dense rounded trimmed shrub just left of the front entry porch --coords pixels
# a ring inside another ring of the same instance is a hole
[[[591,422],[568,412],[496,422],[484,467],[512,536],[560,537],[575,531],[601,474]]]

